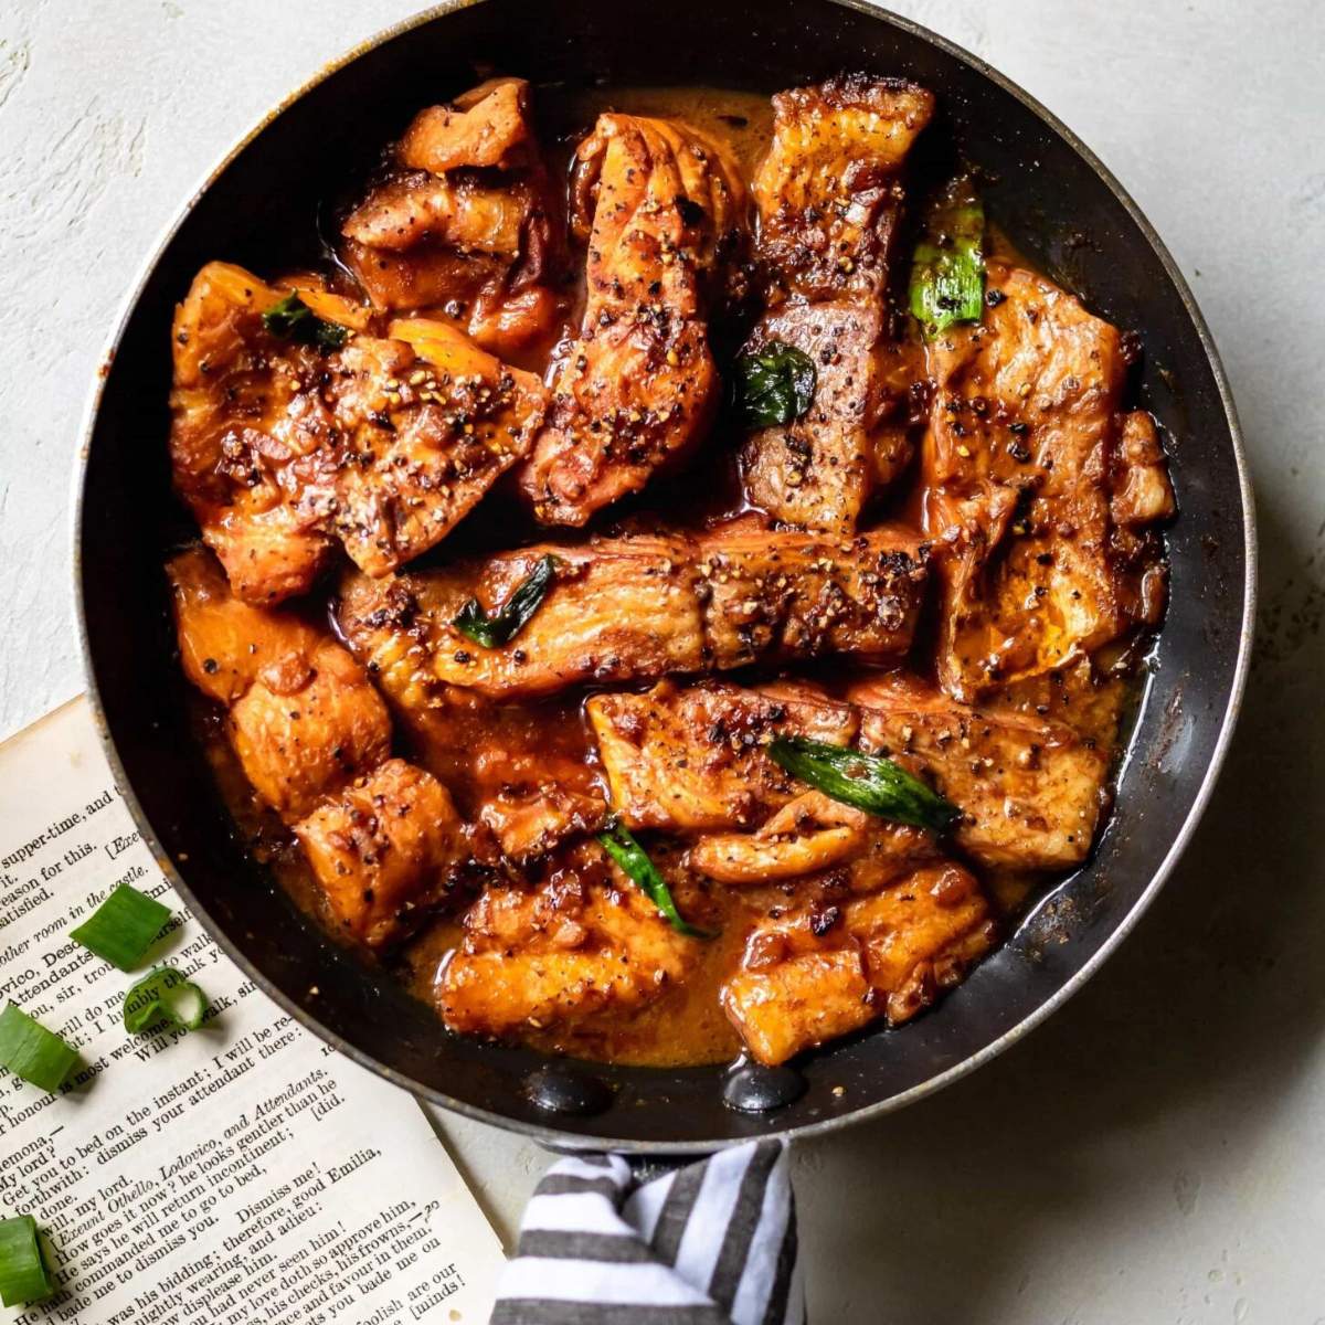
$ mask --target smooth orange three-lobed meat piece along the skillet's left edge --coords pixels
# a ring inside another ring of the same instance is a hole
[[[231,746],[257,799],[292,825],[346,934],[386,942],[469,860],[449,795],[390,758],[386,704],[329,635],[240,602],[201,549],[166,570],[186,673],[229,708]]]

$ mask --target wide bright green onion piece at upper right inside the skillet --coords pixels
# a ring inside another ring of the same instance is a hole
[[[910,310],[926,338],[984,311],[984,208],[967,179],[954,180],[912,260]]]

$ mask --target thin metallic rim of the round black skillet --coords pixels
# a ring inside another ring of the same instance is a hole
[[[87,631],[87,612],[85,604],[85,576],[83,576],[83,558],[82,558],[82,529],[83,529],[83,506],[87,497],[87,465],[89,456],[91,450],[93,435],[97,427],[97,420],[101,413],[101,407],[106,391],[106,382],[109,378],[110,364],[114,362],[115,354],[125,338],[125,333],[132,321],[139,301],[142,298],[143,290],[147,286],[152,273],[155,272],[158,264],[164,256],[167,248],[174,241],[179,229],[192,213],[195,207],[203,199],[203,196],[212,188],[213,183],[229,168],[229,166],[248,150],[265,131],[266,129],[281,115],[286,109],[293,106],[295,102],[301,101],[307,95],[314,87],[325,82],[331,74],[339,72],[347,65],[354,64],[362,56],[371,50],[382,46],[388,41],[394,41],[416,28],[425,26],[447,15],[458,12],[461,9],[469,9],[476,5],[484,4],[485,0],[441,0],[441,3],[431,5],[427,9],[420,11],[416,15],[411,15],[408,19],[403,19],[399,23],[391,24],[387,28],[380,29],[371,37],[358,42],[351,46],[346,53],[337,57],[335,60],[325,64],[313,77],[307,78],[301,83],[294,91],[285,95],[272,110],[269,110],[261,119],[257,121],[246,132],[244,132],[235,144],[228,148],[221,159],[208,170],[199,186],[196,186],[187,200],[179,207],[167,224],[156,244],[152,246],[150,256],[139,268],[136,280],[132,282],[130,293],[125,297],[121,303],[119,314],[114,322],[114,329],[106,342],[105,350],[98,356],[97,379],[93,391],[89,396],[87,404],[83,411],[82,421],[80,424],[78,437],[78,457],[74,465],[73,473],[73,501],[70,504],[73,527],[72,534],[72,570],[74,578],[74,607],[78,631],[78,645],[80,653],[82,656],[83,674],[87,684],[86,694],[91,705],[93,721],[97,726],[97,734],[101,741],[102,749],[106,754],[106,759],[110,765],[111,772],[114,774],[115,782],[121,788],[130,814],[132,815],[134,823],[142,833],[142,839],[148,849],[152,852],[152,857],[166,876],[171,886],[179,893],[188,908],[192,910],[193,916],[197,918],[199,924],[205,929],[211,938],[221,947],[221,950],[233,961],[238,969],[257,984],[262,992],[272,999],[284,1012],[292,1016],[295,1022],[303,1026],[306,1030],[311,1031],[321,1040],[329,1044],[331,1048],[346,1055],[351,1061],[359,1064],[363,1068],[374,1072],[376,1076],[390,1081],[392,1085],[400,1086],[413,1094],[417,1100],[427,1100],[429,1104],[439,1108],[447,1109],[453,1113],[458,1113],[462,1117],[470,1118],[477,1122],[486,1122],[492,1126],[501,1128],[506,1132],[513,1132],[519,1136],[529,1137],[533,1141],[538,1141],[543,1146],[564,1151],[587,1151],[587,1150],[612,1150],[625,1155],[704,1155],[712,1154],[716,1150],[725,1149],[730,1145],[741,1145],[747,1141],[747,1137],[719,1137],[712,1141],[672,1141],[665,1140],[635,1140],[635,1138],[612,1138],[612,1137],[599,1137],[587,1136],[584,1133],[571,1133],[562,1132],[554,1125],[545,1125],[539,1122],[530,1122],[523,1118],[507,1117],[502,1113],[496,1113],[490,1109],[484,1109],[477,1105],[468,1104],[462,1100],[456,1100],[452,1096],[445,1094],[441,1090],[436,1090],[429,1086],[421,1086],[417,1081],[405,1076],[403,1072],[379,1061],[374,1055],[359,1048],[355,1044],[344,1040],[342,1036],[330,1031],[318,1019],[317,1014],[301,1003],[297,1003],[293,998],[288,996],[281,991],[258,967],[257,965],[244,953],[240,945],[233,941],[229,934],[224,930],[221,925],[217,925],[208,910],[199,902],[197,897],[193,894],[189,885],[184,881],[180,872],[176,869],[171,857],[166,853],[160,841],[156,837],[142,806],[138,802],[136,792],[130,783],[127,774],[125,771],[123,763],[121,762],[119,753],[115,747],[114,739],[110,734],[109,723],[106,719],[105,706],[102,705],[101,692],[97,685],[97,674],[93,664],[93,651]],[[772,1132],[763,1133],[765,1137],[776,1138],[782,1141],[790,1141],[792,1137],[796,1138],[810,1138],[824,1136],[829,1132],[836,1132],[844,1126],[867,1122],[873,1118],[882,1117],[886,1113],[892,1113],[897,1109],[902,1109],[910,1104],[914,1104],[929,1094],[933,1094],[945,1086],[961,1080],[962,1077],[970,1075],[977,1068],[983,1067],[992,1059],[998,1057],[1000,1053],[1011,1048],[1014,1044],[1024,1039],[1031,1031],[1039,1027],[1044,1020],[1047,1020],[1053,1012],[1056,1012],[1068,999],[1072,998],[1085,983],[1089,980],[1100,966],[1113,954],[1118,945],[1132,933],[1136,925],[1140,922],[1141,917],[1146,913],[1150,905],[1154,902],[1155,896],[1159,889],[1167,881],[1170,873],[1181,859],[1182,853],[1186,851],[1192,835],[1195,833],[1202,818],[1204,816],[1206,808],[1210,802],[1210,796],[1214,791],[1215,783],[1218,782],[1219,774],[1223,768],[1224,759],[1228,753],[1230,742],[1232,741],[1234,730],[1238,725],[1238,717],[1242,710],[1242,702],[1247,686],[1247,676],[1251,665],[1251,652],[1252,643],[1255,637],[1255,621],[1256,621],[1256,594],[1257,594],[1257,546],[1256,546],[1256,506],[1255,497],[1251,486],[1249,468],[1247,464],[1247,454],[1243,441],[1242,425],[1238,419],[1238,407],[1234,401],[1232,390],[1228,383],[1227,374],[1220,360],[1219,351],[1215,346],[1214,338],[1210,333],[1210,327],[1200,311],[1196,299],[1187,285],[1186,278],[1179,270],[1177,262],[1174,261],[1171,253],[1165,245],[1163,240],[1159,237],[1158,232],[1146,219],[1145,213],[1137,205],[1132,195],[1122,187],[1113,172],[1100,160],[1098,156],[1065,125],[1060,121],[1052,111],[1049,111],[1044,105],[1041,105],[1035,97],[1028,91],[1015,83],[1007,76],[999,73],[979,56],[973,54],[965,48],[959,46],[957,42],[950,41],[929,28],[913,21],[912,19],[902,17],[901,15],[893,13],[890,9],[881,8],[876,4],[871,4],[869,0],[829,0],[829,3],[839,5],[844,9],[852,9],[857,13],[864,15],[868,19],[876,20],[884,25],[900,29],[908,36],[934,46],[941,53],[949,58],[967,65],[974,73],[982,76],[983,78],[992,82],[1000,91],[1012,97],[1022,103],[1032,115],[1035,115],[1045,129],[1056,134],[1064,144],[1080,158],[1085,166],[1096,175],[1096,178],[1109,189],[1116,197],[1118,204],[1122,207],[1124,212],[1137,228],[1145,241],[1149,244],[1151,252],[1158,258],[1165,274],[1169,277],[1178,299],[1182,303],[1183,311],[1187,315],[1191,329],[1195,333],[1195,338],[1200,344],[1200,350],[1210,366],[1211,376],[1214,379],[1215,387],[1219,394],[1219,401],[1223,408],[1224,421],[1228,431],[1228,441],[1232,448],[1234,464],[1238,473],[1238,494],[1242,504],[1242,531],[1243,531],[1243,607],[1242,607],[1242,623],[1238,632],[1238,657],[1234,664],[1234,673],[1230,681],[1228,689],[1228,704],[1224,708],[1224,713],[1219,719],[1219,734],[1215,739],[1214,749],[1211,751],[1210,762],[1206,767],[1206,772],[1200,780],[1200,786],[1192,799],[1191,808],[1187,812],[1186,819],[1178,827],[1174,833],[1173,840],[1163,860],[1159,863],[1150,882],[1137,897],[1130,910],[1122,916],[1117,922],[1113,931],[1104,939],[1100,947],[1085,961],[1085,963],[1064,982],[1064,984],[1057,988],[1049,998],[1040,1003],[1034,1011],[1028,1012],[1016,1026],[1004,1031],[1000,1036],[991,1040],[982,1049],[963,1059],[961,1063],[954,1064],[945,1072],[937,1076],[929,1077],[928,1080],[910,1086],[897,1094],[889,1096],[885,1100],[876,1100],[871,1104],[864,1104],[859,1109],[853,1109],[849,1113],[836,1114],[831,1118],[824,1118],[816,1122],[803,1122],[791,1128],[779,1128]]]

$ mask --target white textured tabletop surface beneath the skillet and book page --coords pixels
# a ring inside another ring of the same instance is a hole
[[[415,8],[0,0],[0,733],[81,688],[69,473],[122,293],[240,132]],[[1125,950],[974,1079],[803,1147],[811,1318],[1325,1325],[1325,9],[898,8],[1077,130],[1192,280],[1252,454],[1264,628],[1214,808]],[[543,1155],[443,1126],[509,1232]]]

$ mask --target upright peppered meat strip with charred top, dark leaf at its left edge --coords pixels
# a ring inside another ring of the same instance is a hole
[[[786,523],[849,534],[912,453],[894,419],[909,375],[885,295],[900,175],[934,98],[853,76],[772,103],[772,147],[754,184],[767,313],[745,352],[794,346],[814,362],[818,388],[802,417],[749,440],[746,488]]]

